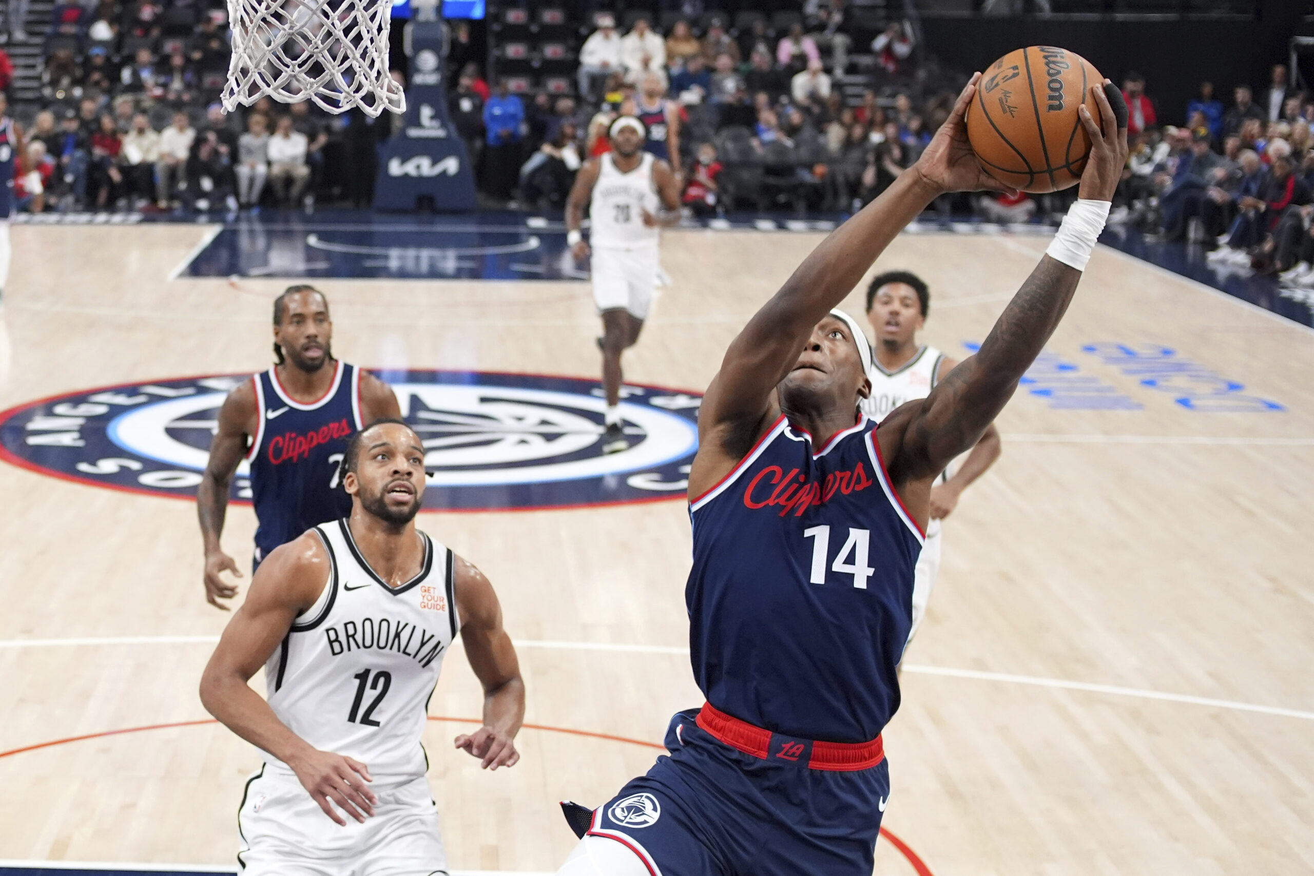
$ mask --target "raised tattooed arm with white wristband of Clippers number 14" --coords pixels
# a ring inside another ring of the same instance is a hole
[[[1118,113],[1106,89],[1120,102]],[[880,424],[878,437],[896,487],[929,483],[950,460],[976,443],[1072,301],[1127,158],[1127,117],[1121,96],[1112,85],[1097,84],[1091,91],[1101,118],[1092,118],[1084,105],[1077,110],[1091,137],[1091,158],[1081,173],[1080,200],[1054,243],[1000,314],[980,351],[954,368],[925,399],[904,405]],[[909,508],[925,520],[916,504],[924,507],[924,499],[913,498]]]

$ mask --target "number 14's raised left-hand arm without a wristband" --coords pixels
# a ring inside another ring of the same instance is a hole
[[[699,412],[699,437],[711,452],[699,450],[694,481],[715,482],[749,450],[775,419],[771,391],[796,364],[813,327],[932,200],[945,192],[1010,190],[980,169],[967,143],[964,114],[979,77],[972,75],[958,95],[921,159],[823,240],[731,343]]]

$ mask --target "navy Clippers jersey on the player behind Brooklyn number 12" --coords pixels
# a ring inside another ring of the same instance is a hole
[[[363,428],[360,372],[334,362],[332,386],[317,402],[293,401],[275,369],[254,377],[260,426],[247,453],[251,496],[259,527],[256,565],[306,529],[351,514],[351,496],[338,483],[347,439]]]

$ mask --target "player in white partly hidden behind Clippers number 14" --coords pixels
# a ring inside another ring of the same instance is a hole
[[[917,345],[917,332],[926,324],[930,290],[915,273],[892,271],[871,278],[867,286],[867,322],[876,343],[867,378],[871,395],[862,402],[862,412],[879,423],[891,411],[916,398],[926,398],[958,362],[930,345]],[[1000,454],[999,429],[991,423],[980,441],[954,471],[941,473],[930,489],[930,519],[926,521],[926,544],[917,557],[912,588],[912,629],[917,634],[926,603],[940,571],[941,520],[953,514],[963,490],[986,473]]]

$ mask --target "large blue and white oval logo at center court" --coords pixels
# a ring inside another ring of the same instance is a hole
[[[602,454],[597,381],[537,374],[381,373],[424,443],[431,511],[582,507],[683,498],[696,393],[627,385],[629,449]],[[0,456],[97,486],[194,498],[215,418],[247,374],[125,383],[0,414]],[[246,462],[233,499],[250,502]]]

